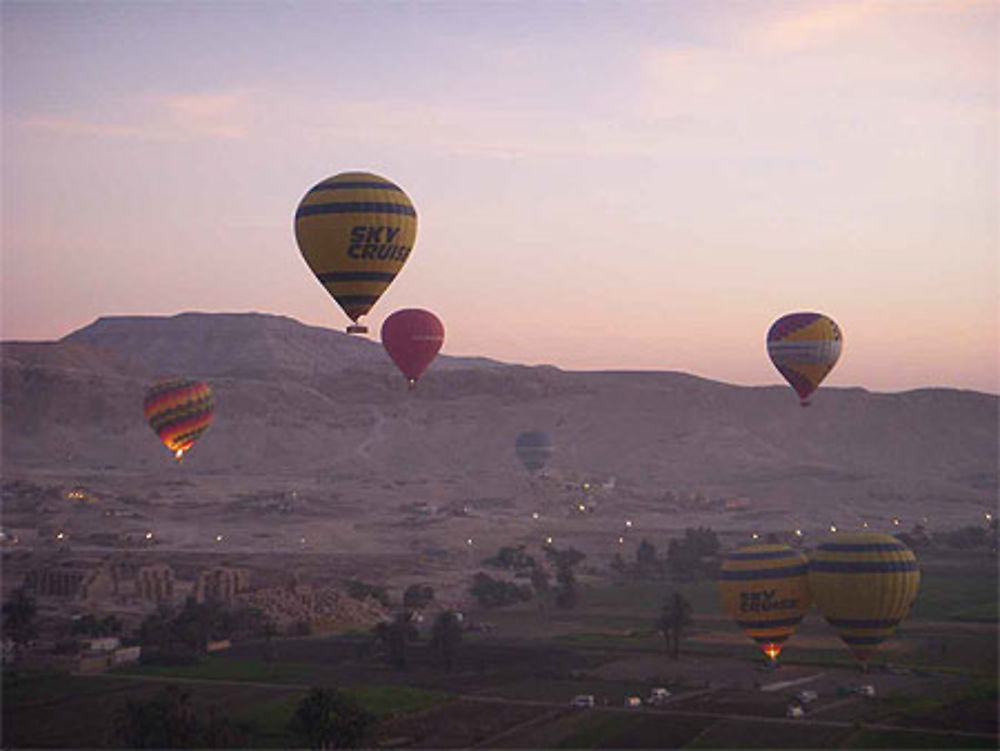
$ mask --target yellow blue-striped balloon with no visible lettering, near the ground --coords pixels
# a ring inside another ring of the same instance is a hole
[[[809,557],[816,607],[862,667],[910,612],[919,587],[916,556],[892,535],[837,535]]]

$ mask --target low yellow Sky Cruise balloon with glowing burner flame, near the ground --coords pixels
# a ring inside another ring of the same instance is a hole
[[[772,662],[812,603],[806,557],[788,545],[748,545],[725,557],[719,594],[729,617]]]

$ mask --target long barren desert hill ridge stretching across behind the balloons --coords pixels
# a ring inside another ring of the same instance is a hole
[[[801,409],[784,387],[441,356],[407,392],[377,342],[262,314],[101,318],[59,342],[4,343],[2,358],[5,475],[168,471],[141,403],[155,376],[183,373],[218,397],[188,477],[503,496],[526,481],[514,438],[537,428],[556,443],[552,474],[615,477],[635,498],[860,512],[886,499],[982,506],[997,490],[998,398],[971,391],[825,388]]]

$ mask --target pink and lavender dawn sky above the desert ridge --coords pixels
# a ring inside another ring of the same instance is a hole
[[[375,307],[444,352],[998,387],[992,2],[3,5],[2,336],[256,310],[342,328],[291,232],[366,169],[420,216]]]

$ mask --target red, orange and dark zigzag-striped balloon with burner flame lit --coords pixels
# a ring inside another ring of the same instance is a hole
[[[150,427],[179,462],[212,424],[215,396],[202,381],[166,378],[146,392],[143,410]]]

